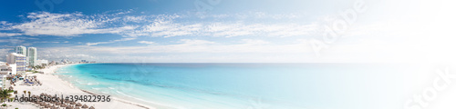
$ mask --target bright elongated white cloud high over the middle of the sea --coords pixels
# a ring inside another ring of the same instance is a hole
[[[193,23],[181,24],[172,21],[156,21],[152,25],[140,27],[140,30],[128,33],[130,36],[305,36],[319,29],[319,26],[295,24],[245,24],[245,23]]]

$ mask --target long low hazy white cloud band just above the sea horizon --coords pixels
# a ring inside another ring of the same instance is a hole
[[[257,39],[244,39],[239,42],[239,44],[224,44],[207,40],[181,39],[178,44],[163,45],[140,41],[139,43],[142,44],[153,45],[115,47],[80,45],[69,47],[69,49],[68,47],[47,47],[42,48],[40,51],[44,52],[40,54],[51,60],[68,58],[104,62],[137,62],[139,60],[146,62],[284,62],[292,60],[299,62],[307,57],[292,58],[294,56],[291,55],[306,55],[307,51],[310,51],[302,42],[288,45],[277,45]],[[256,60],[258,58],[261,60]]]

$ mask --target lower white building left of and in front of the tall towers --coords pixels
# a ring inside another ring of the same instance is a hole
[[[16,64],[16,73],[26,73],[26,55],[11,53],[6,56],[7,64]]]

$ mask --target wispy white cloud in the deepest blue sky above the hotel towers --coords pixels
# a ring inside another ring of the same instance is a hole
[[[119,18],[106,16],[72,14],[50,14],[47,12],[29,13],[30,22],[13,25],[11,29],[24,32],[24,35],[76,36],[84,34],[119,34],[132,30],[135,26],[107,27],[110,22]]]

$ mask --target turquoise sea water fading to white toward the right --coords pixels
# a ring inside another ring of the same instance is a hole
[[[403,64],[76,64],[57,74],[83,90],[160,108],[399,109],[413,89],[409,84],[432,70]]]

